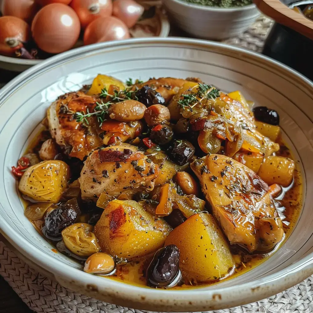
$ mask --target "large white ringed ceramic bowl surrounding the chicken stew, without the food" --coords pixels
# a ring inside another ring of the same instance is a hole
[[[54,253],[24,217],[10,170],[38,133],[51,101],[90,83],[98,73],[121,80],[196,76],[226,92],[241,90],[256,105],[277,110],[285,141],[302,172],[305,197],[299,221],[285,244],[239,277],[179,291],[136,287],[92,276],[64,255]],[[182,38],[132,39],[57,55],[0,90],[1,233],[31,266],[67,288],[109,303],[153,311],[206,311],[274,295],[313,274],[312,104],[312,82],[278,62],[224,44]]]

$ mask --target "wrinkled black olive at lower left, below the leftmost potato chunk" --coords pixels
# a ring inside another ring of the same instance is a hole
[[[62,203],[59,208],[53,210],[45,218],[42,232],[50,240],[61,240],[62,230],[69,225],[74,224],[79,213],[80,208],[76,198],[73,198],[66,203]]]

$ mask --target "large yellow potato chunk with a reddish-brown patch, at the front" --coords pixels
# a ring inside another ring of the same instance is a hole
[[[134,259],[163,247],[172,228],[136,201],[114,200],[94,228],[102,252]]]

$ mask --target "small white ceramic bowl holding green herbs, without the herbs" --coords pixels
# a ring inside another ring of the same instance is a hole
[[[260,15],[255,4],[215,8],[181,0],[163,0],[169,17],[193,37],[222,40],[246,31]]]

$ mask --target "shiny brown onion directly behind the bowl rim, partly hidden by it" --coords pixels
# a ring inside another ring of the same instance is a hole
[[[130,33],[125,23],[118,18],[109,16],[107,18],[98,18],[87,26],[84,34],[84,44],[127,38],[130,38]]]

